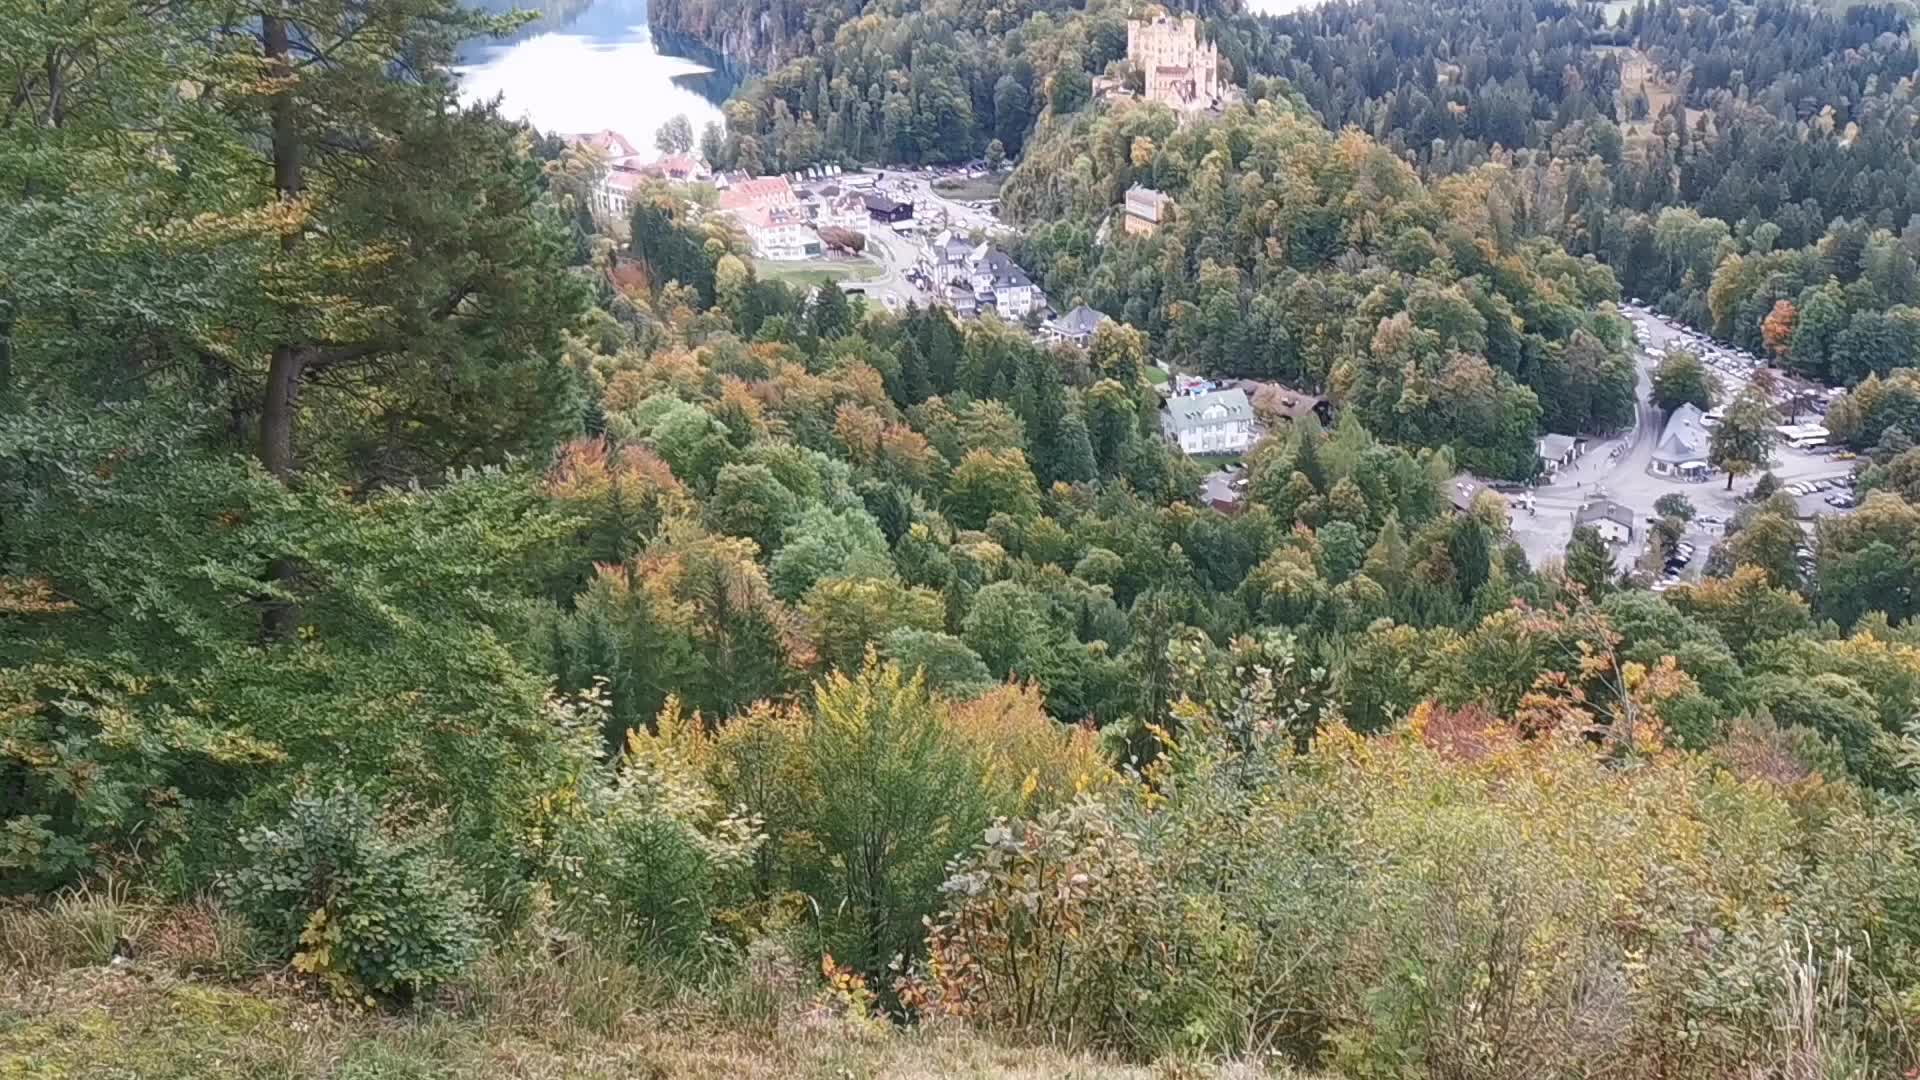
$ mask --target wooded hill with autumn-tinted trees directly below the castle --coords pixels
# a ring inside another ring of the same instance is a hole
[[[1114,225],[1133,184],[1173,196],[1171,227]],[[1371,138],[1261,100],[1210,125],[1162,108],[1052,123],[1002,211],[1048,292],[1188,367],[1329,388],[1382,438],[1526,479],[1536,432],[1632,423],[1634,367],[1626,323],[1601,311],[1613,275],[1517,233],[1511,196],[1498,169],[1428,190]]]

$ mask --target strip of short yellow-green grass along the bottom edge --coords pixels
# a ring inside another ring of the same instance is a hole
[[[528,988],[532,992],[532,988]],[[831,1017],[728,1028],[699,1007],[582,1022],[480,995],[420,1015],[353,1013],[257,982],[246,988],[142,967],[73,969],[0,990],[0,1076],[255,1078],[1148,1078],[1046,1047],[964,1032],[864,1030]],[[703,1015],[705,1013],[705,1015]]]

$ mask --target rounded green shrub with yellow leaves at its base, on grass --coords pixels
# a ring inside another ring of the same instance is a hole
[[[474,896],[422,832],[397,832],[351,790],[300,794],[240,838],[228,901],[298,970],[340,997],[407,999],[457,976],[480,940]]]

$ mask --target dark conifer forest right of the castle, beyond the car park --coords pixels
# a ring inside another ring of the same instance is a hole
[[[1897,8],[1359,0],[1221,33],[1425,171],[1507,165],[1521,229],[1716,336],[1837,384],[1920,350],[1920,52]]]

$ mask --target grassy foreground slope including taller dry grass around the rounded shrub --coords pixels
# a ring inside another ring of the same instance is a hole
[[[109,967],[113,940],[134,961]],[[0,903],[6,1080],[787,1080],[845,1076],[1148,1080],[1213,1067],[1127,1067],[1014,1047],[950,1024],[845,1017],[812,978],[720,978],[689,992],[591,945],[503,949],[430,1005],[330,1003],[263,963],[211,907],[73,894]],[[1256,1072],[1238,1072],[1254,1076]]]

